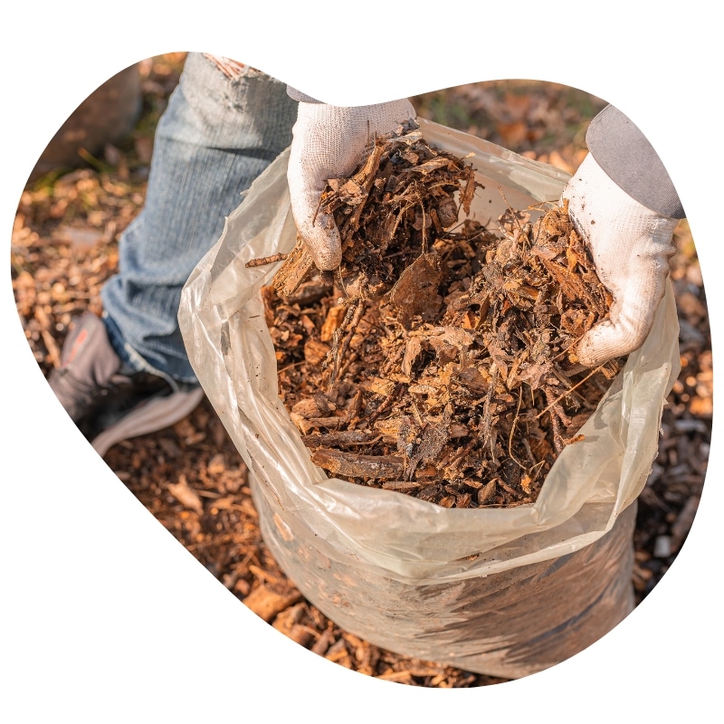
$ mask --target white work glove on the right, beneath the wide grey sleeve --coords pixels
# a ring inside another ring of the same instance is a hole
[[[610,319],[586,332],[578,361],[597,367],[643,344],[653,324],[675,252],[677,220],[656,214],[617,186],[588,154],[561,194],[614,302]]]

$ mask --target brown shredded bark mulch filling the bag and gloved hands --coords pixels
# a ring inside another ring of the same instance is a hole
[[[322,195],[338,270],[298,242],[262,291],[281,399],[335,477],[448,508],[534,502],[620,368],[577,364],[611,298],[566,209],[509,208],[492,232],[458,221],[476,186],[419,130],[380,138]]]

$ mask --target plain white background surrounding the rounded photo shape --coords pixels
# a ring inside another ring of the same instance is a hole
[[[33,3],[2,11],[6,250],[24,180],[53,132],[100,83],[151,55],[225,54],[339,105],[472,81],[557,81],[614,103],[659,151],[700,253],[716,355],[720,40],[718,23],[698,4],[662,17],[615,2],[596,4],[598,13],[584,3],[481,0],[434,11],[365,0],[291,12],[244,5]],[[700,720],[697,712],[715,705],[717,425],[691,536],[614,632],[548,672],[500,686],[440,691],[375,681],[263,624],[157,524],[62,412],[24,339],[10,274],[0,283],[5,721],[679,722]]]

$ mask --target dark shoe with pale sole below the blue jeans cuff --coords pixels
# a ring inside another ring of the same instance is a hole
[[[65,340],[48,382],[71,420],[102,456],[130,437],[155,433],[190,414],[204,392],[135,372],[110,345],[106,326],[85,312]]]

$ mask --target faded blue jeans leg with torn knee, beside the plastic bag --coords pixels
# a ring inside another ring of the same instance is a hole
[[[178,329],[181,290],[242,192],[290,145],[296,113],[284,83],[252,69],[230,79],[187,56],[158,122],[146,203],[101,290],[111,344],[133,369],[198,384]]]

